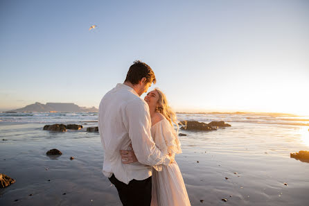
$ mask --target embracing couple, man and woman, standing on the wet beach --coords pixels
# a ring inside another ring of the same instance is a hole
[[[115,185],[121,203],[132,206],[188,206],[175,154],[182,153],[175,112],[154,89],[152,69],[136,61],[123,84],[103,96],[98,128],[104,149],[103,174]]]

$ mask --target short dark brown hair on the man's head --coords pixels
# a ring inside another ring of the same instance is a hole
[[[146,83],[156,83],[156,76],[151,67],[140,60],[136,60],[127,71],[125,82],[130,82],[132,85],[137,85],[142,78],[146,78]]]

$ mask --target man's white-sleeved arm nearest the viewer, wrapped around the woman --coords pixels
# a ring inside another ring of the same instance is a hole
[[[143,101],[131,101],[123,114],[125,127],[132,141],[132,148],[141,164],[150,166],[170,163],[170,157],[161,153],[152,140],[151,120],[148,105]]]

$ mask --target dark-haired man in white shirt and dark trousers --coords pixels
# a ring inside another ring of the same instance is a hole
[[[103,174],[116,186],[123,205],[143,206],[151,202],[152,166],[173,160],[155,146],[151,137],[148,104],[140,97],[155,83],[152,69],[136,61],[123,84],[103,96],[98,128],[104,149]],[[119,151],[134,150],[136,161],[122,162]]]

